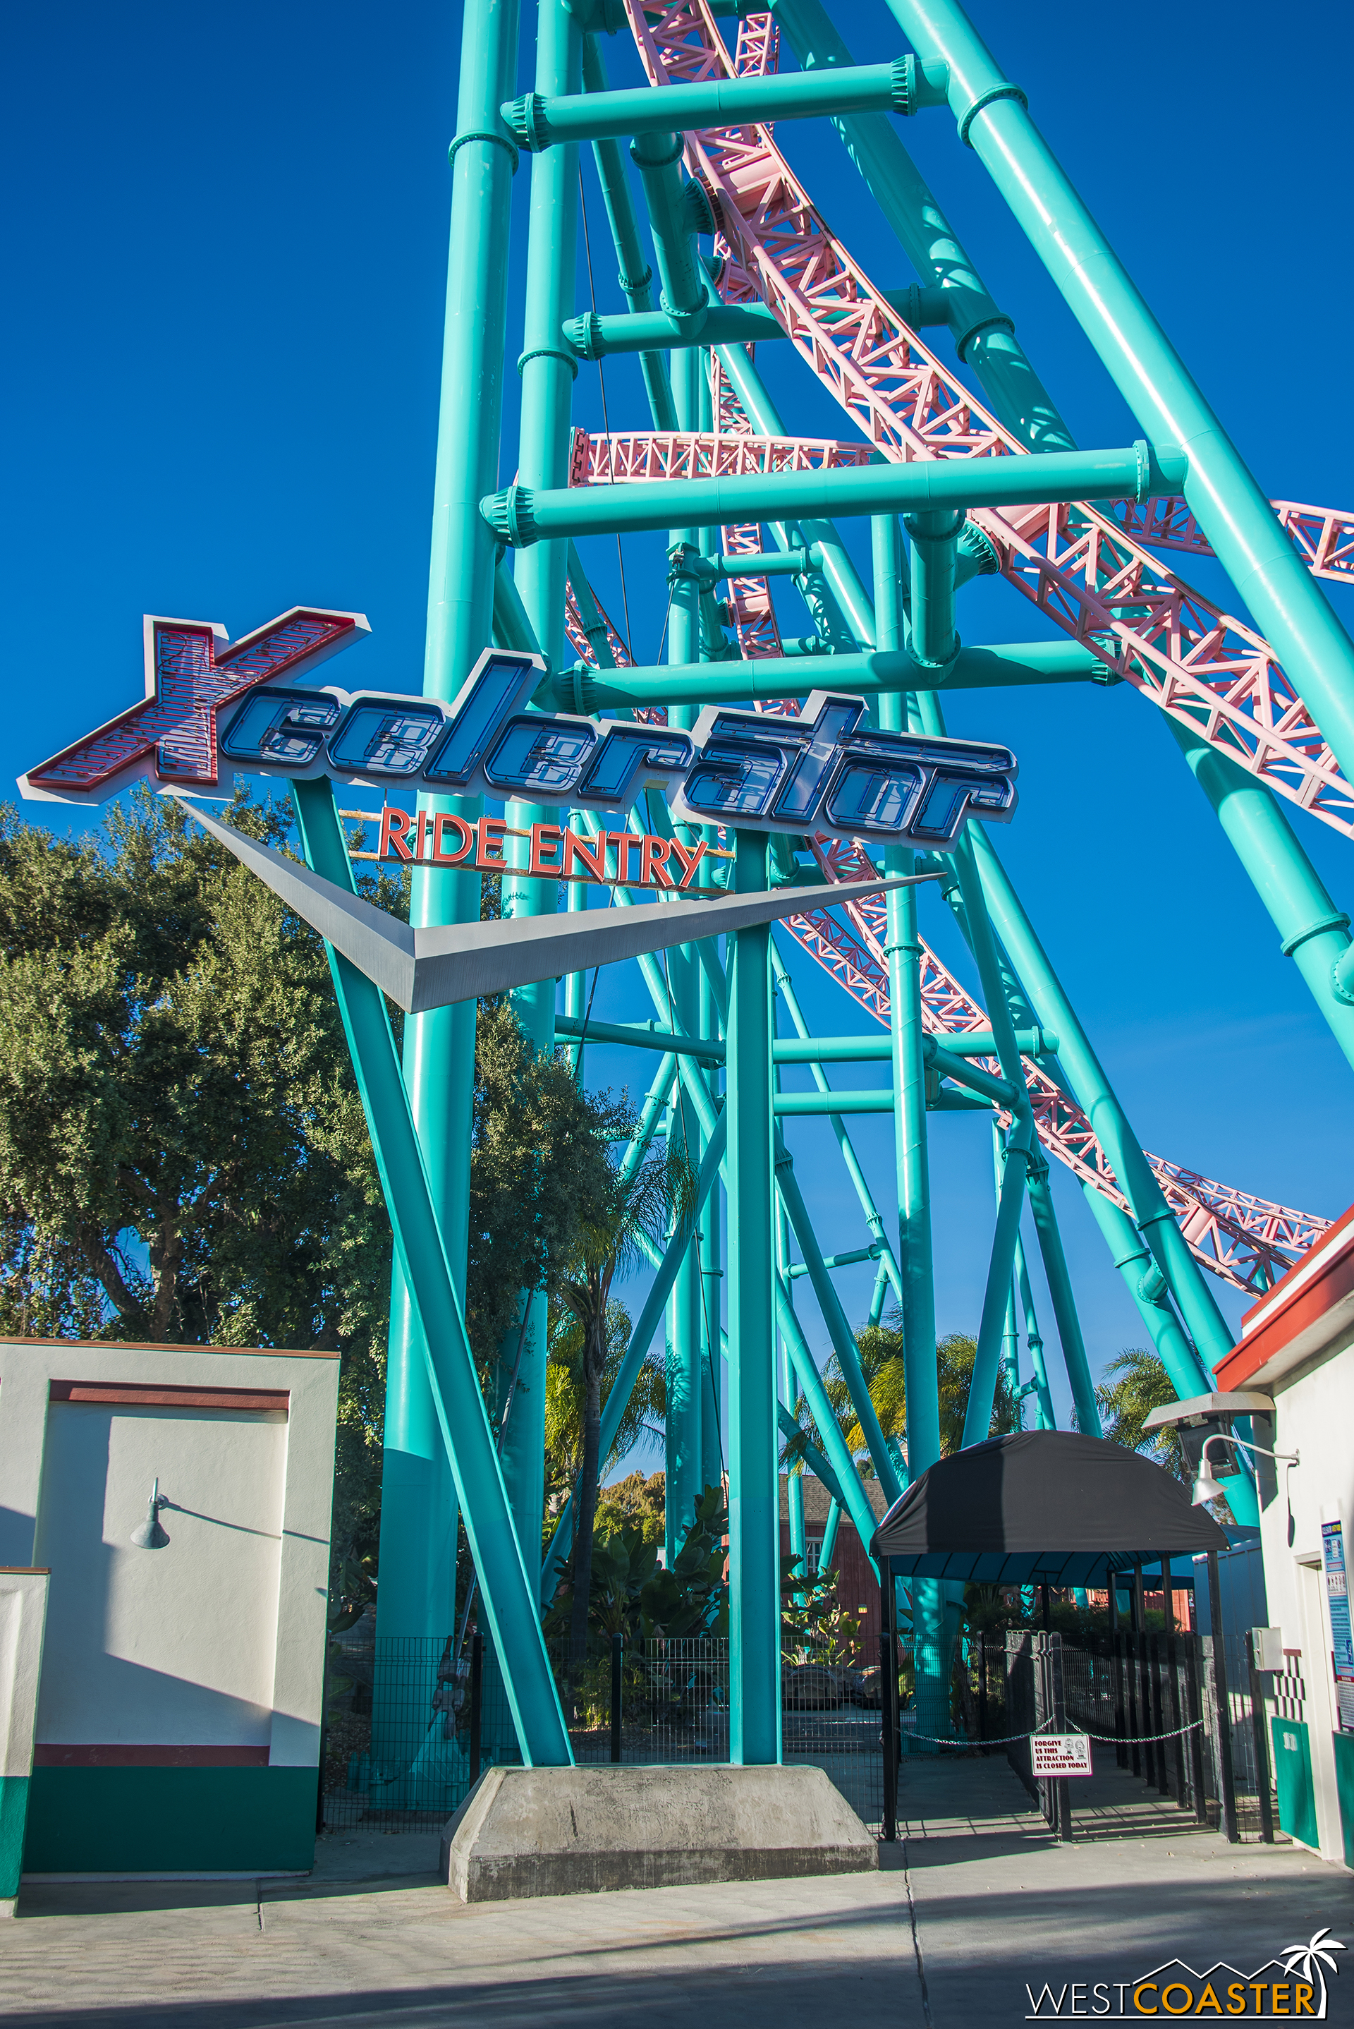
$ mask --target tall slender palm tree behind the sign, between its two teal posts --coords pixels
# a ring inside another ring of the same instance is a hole
[[[695,1205],[695,1175],[683,1150],[669,1144],[665,1155],[649,1155],[638,1165],[622,1161],[622,1142],[630,1138],[632,1128],[634,1116],[624,1104],[608,1108],[598,1134],[606,1134],[610,1159],[588,1203],[580,1205],[574,1264],[557,1282],[559,1303],[572,1311],[582,1333],[578,1372],[584,1396],[584,1457],[574,1495],[572,1662],[582,1662],[588,1652],[592,1526],[602,1465],[602,1386],[612,1282],[643,1264],[643,1238],[661,1246],[675,1226],[689,1221]]]

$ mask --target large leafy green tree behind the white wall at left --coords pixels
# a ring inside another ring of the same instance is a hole
[[[172,801],[87,838],[0,810],[0,1329],[338,1351],[343,1560],[375,1548],[387,1303],[320,939]]]

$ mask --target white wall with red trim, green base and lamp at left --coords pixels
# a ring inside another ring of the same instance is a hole
[[[0,1341],[0,1564],[51,1570],[26,1873],[312,1865],[336,1394],[330,1353]]]

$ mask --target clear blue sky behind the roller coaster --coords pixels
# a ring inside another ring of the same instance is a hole
[[[977,0],[971,12],[1261,485],[1354,503],[1338,398],[1348,227],[1330,195],[1346,185],[1348,6],[1313,0],[1279,41],[1273,12],[1247,0],[1046,0],[1024,14]],[[837,0],[835,14],[861,61],[902,49],[878,0]],[[531,10],[525,20],[523,85]],[[359,607],[373,639],[345,657],[343,680],[418,686],[458,34],[458,8],[420,0],[389,12],[75,0],[10,16],[6,779],[140,696],[146,611],[237,635],[302,601]],[[622,39],[608,63],[614,81],[638,79]],[[912,280],[831,130],[782,126],[780,138],[870,272]],[[953,124],[914,120],[904,140],[1078,438],[1139,434]],[[588,179],[598,302],[620,308],[590,164]],[[523,168],[509,357],[527,181]],[[586,290],[580,264],[580,308]],[[845,434],[788,347],[762,363],[801,430]],[[509,402],[515,386],[509,371]],[[600,426],[596,369],[576,396],[578,420]],[[612,422],[643,426],[632,369],[608,369],[608,396]],[[505,479],[515,426],[509,412]],[[663,611],[645,572],[655,548],[636,542],[628,566],[643,655]],[[610,601],[602,552],[596,574]],[[1350,594],[1336,605],[1348,621]],[[999,584],[969,590],[961,625],[975,643],[1032,631]],[[951,730],[1020,753],[1022,806],[997,844],[1143,1142],[1267,1197],[1344,1209],[1350,1073],[1153,708],[1127,686],[993,692],[955,702]],[[39,806],[28,816],[69,822]],[[1295,824],[1338,903],[1354,903],[1350,848]],[[924,913],[971,978],[941,905]],[[795,970],[815,1025],[847,1027],[847,1002],[807,960]],[[647,1012],[636,986],[604,982],[598,1014],[628,1010]],[[594,1069],[624,1075],[600,1053]],[[985,1122],[934,1120],[941,1329],[977,1325],[985,1136]],[[859,1144],[888,1201],[884,1124],[861,1120]],[[857,1246],[827,1128],[805,1124],[797,1146],[825,1248]],[[1099,1366],[1141,1327],[1076,1189],[1056,1187]],[[868,1282],[841,1278],[851,1317]],[[1224,1309],[1234,1319],[1240,1305],[1224,1295]],[[813,1335],[821,1345],[817,1317]]]

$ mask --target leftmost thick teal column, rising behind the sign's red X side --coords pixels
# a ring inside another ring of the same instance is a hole
[[[434,475],[424,694],[456,696],[488,643],[495,542],[478,511],[499,475],[507,246],[517,148],[499,116],[517,73],[515,0],[468,0],[460,37],[460,97],[452,154],[442,398]],[[456,810],[428,797],[428,810]],[[466,816],[474,816],[466,810]],[[347,860],[345,860],[347,864]],[[416,925],[474,921],[476,874],[416,870]],[[464,1288],[470,1203],[474,1002],[405,1021],[403,1075],[428,1165],[428,1185],[456,1288]],[[377,1631],[442,1635],[456,1599],[456,1506],[428,1384],[428,1347],[403,1270],[391,1274],[381,1473],[381,1597]]]

